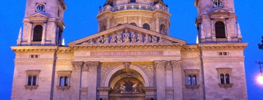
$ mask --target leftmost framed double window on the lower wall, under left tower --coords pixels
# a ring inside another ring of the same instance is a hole
[[[40,70],[26,70],[26,89],[36,89],[38,87],[38,76]]]

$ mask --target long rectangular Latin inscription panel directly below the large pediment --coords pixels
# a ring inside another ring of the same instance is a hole
[[[91,52],[91,56],[138,56],[138,55],[164,55],[164,51],[101,51]]]

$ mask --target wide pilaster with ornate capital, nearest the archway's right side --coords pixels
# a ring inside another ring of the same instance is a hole
[[[165,100],[165,65],[164,61],[154,62],[156,67],[157,100]]]

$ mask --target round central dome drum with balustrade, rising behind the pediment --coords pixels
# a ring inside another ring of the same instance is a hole
[[[96,17],[98,32],[128,23],[168,35],[170,16],[163,0],[107,0]]]

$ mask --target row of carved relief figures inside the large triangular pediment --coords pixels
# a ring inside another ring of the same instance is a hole
[[[82,44],[125,44],[125,43],[177,43],[167,40],[163,37],[147,33],[137,33],[125,30],[120,33],[100,35],[96,38],[89,39]]]

